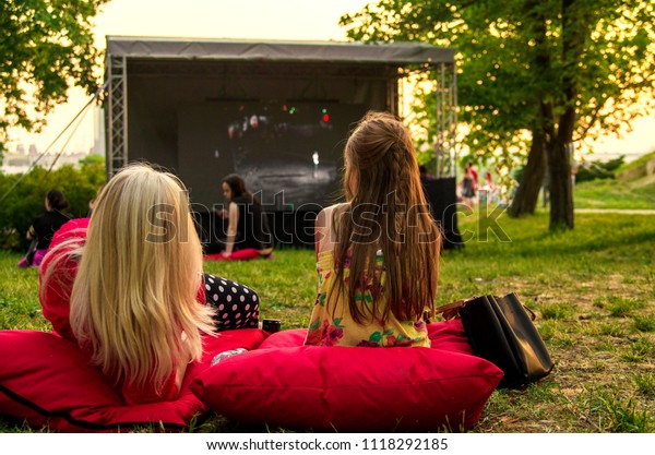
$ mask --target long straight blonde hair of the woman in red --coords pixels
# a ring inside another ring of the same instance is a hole
[[[175,176],[120,170],[98,194],[86,244],[70,254],[81,256],[71,327],[105,374],[160,391],[180,362],[200,359],[213,313],[196,301],[202,248]]]

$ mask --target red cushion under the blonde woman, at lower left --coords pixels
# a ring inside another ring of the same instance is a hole
[[[129,406],[74,343],[44,332],[0,331],[0,414],[57,431],[182,429],[207,410],[189,390],[191,381],[217,352],[254,349],[265,336],[243,328],[205,338],[203,361],[187,369],[178,399]]]

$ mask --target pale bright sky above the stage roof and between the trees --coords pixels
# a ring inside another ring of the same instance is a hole
[[[105,48],[107,35],[168,36],[228,39],[345,40],[338,26],[344,13],[360,10],[370,0],[111,0],[95,17],[95,38]],[[36,144],[45,151],[86,105],[81,89],[69,92],[69,103],[58,106],[39,134],[12,131],[14,141],[25,147]],[[633,132],[622,139],[606,136],[596,141],[596,153],[643,154],[655,148],[655,115],[633,122]],[[93,112],[85,115],[71,135],[67,130],[51,148],[59,152],[69,139],[70,151],[86,151],[94,142]]]

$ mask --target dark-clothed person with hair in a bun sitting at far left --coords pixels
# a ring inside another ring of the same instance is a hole
[[[32,244],[25,258],[19,261],[19,267],[40,265],[44,255],[52,241],[52,236],[61,226],[71,219],[71,216],[64,213],[69,203],[61,191],[48,191],[44,204],[46,206],[46,212],[34,218],[34,221],[25,236],[27,240],[32,240]]]

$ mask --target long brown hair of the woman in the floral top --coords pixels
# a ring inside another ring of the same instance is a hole
[[[367,113],[346,143],[349,204],[335,220],[335,286],[345,286],[349,262],[348,304],[358,323],[380,316],[385,322],[390,312],[418,320],[433,308],[441,234],[428,212],[415,155],[403,123],[385,112]],[[384,279],[377,263],[379,249]],[[367,288],[370,314],[358,302]]]

